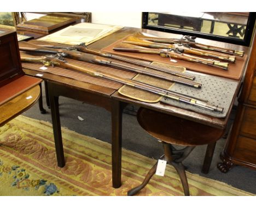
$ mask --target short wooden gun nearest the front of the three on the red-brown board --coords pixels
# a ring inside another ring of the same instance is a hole
[[[142,46],[136,46],[132,44],[120,43],[117,44],[114,48],[114,51],[123,51],[123,52],[133,52],[133,53],[150,53],[150,54],[159,54],[161,57],[170,57],[176,59],[187,60],[188,62],[195,62],[200,64],[205,64],[209,66],[214,66],[219,69],[228,70],[229,63],[218,62],[216,60],[199,58],[191,56],[189,54],[181,53],[171,49],[156,49],[156,48],[146,48]]]

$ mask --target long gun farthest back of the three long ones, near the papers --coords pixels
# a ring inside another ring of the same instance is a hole
[[[96,49],[91,49],[91,48],[86,47],[84,43],[82,43],[80,45],[73,45],[71,47],[69,47],[69,46],[53,46],[53,45],[43,45],[43,46],[44,47],[49,47],[49,48],[65,49],[65,50],[68,50],[68,51],[77,50],[77,51],[84,52],[84,53],[91,53],[91,54],[95,54],[95,55],[101,56],[101,57],[120,60],[122,62],[126,62],[126,63],[129,63],[129,64],[144,66],[146,68],[154,69],[156,71],[166,72],[167,74],[171,74],[171,75],[174,75],[174,76],[178,76],[178,77],[182,77],[182,78],[186,78],[186,79],[190,79],[190,80],[195,79],[195,76],[193,76],[193,75],[188,75],[188,74],[184,74],[184,73],[181,73],[181,72],[166,69],[166,68],[161,67],[161,66],[152,65],[152,64],[144,62],[143,60],[127,58],[127,57],[123,57],[123,56],[118,56],[116,54],[107,53],[107,52],[103,52],[103,51],[96,50]],[[172,64],[170,64],[170,65],[172,65]]]

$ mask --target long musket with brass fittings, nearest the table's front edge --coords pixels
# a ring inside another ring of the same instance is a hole
[[[22,62],[39,62],[46,66],[52,65],[52,66],[59,66],[60,68],[63,68],[63,69],[72,69],[72,70],[83,72],[83,73],[93,76],[93,77],[108,79],[110,81],[114,81],[114,82],[117,82],[120,84],[125,84],[132,88],[137,88],[137,89],[141,89],[144,91],[148,91],[149,93],[164,96],[165,99],[171,99],[171,100],[176,100],[179,102],[188,103],[189,105],[197,106],[197,107],[200,107],[203,109],[207,109],[209,111],[223,112],[222,107],[212,105],[211,103],[208,103],[207,101],[196,99],[194,97],[190,97],[187,95],[182,95],[180,93],[175,93],[171,90],[158,88],[158,87],[155,87],[153,85],[146,84],[143,82],[137,82],[132,79],[127,79],[127,78],[111,75],[108,73],[102,73],[95,69],[86,68],[86,67],[80,66],[78,64],[71,64],[56,55],[43,56],[43,57],[31,56],[31,55],[24,54],[24,53],[20,53],[20,55],[21,55]]]

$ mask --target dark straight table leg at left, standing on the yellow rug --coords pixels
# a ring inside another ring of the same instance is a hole
[[[65,166],[65,158],[61,136],[61,123],[60,123],[60,112],[59,112],[59,96],[54,95],[54,85],[49,83],[48,93],[51,107],[51,120],[53,122],[54,142],[57,156],[57,163],[59,167]]]

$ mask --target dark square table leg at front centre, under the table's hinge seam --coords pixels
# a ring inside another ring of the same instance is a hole
[[[112,184],[114,188],[121,186],[123,109],[123,103],[112,100]]]

